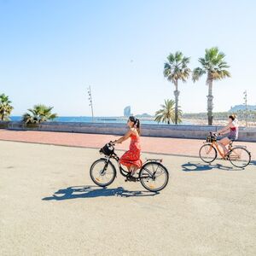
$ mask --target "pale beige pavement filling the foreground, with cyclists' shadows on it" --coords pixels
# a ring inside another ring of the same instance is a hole
[[[3,141],[0,148],[1,256],[256,255],[254,161],[238,170],[160,155],[171,178],[153,194],[119,174],[96,187],[95,148]]]

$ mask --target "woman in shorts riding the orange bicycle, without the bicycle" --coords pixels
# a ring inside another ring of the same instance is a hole
[[[223,129],[217,131],[219,135],[224,135],[229,133],[228,137],[224,137],[219,141],[219,145],[223,148],[224,154],[227,154],[229,151],[226,148],[232,141],[236,141],[238,138],[238,120],[236,119],[235,114],[229,116],[229,123]]]

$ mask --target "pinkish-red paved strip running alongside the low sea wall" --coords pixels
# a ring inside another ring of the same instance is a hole
[[[116,136],[50,132],[50,131],[7,131],[0,130],[0,140],[9,140],[27,143],[46,143],[54,145],[76,146],[83,148],[102,148],[105,143],[115,140]],[[198,156],[199,148],[203,141],[195,139],[142,137],[143,152],[158,154],[177,154],[183,156]],[[256,160],[256,143],[236,142],[246,145],[252,153],[252,159]],[[126,150],[129,142],[117,145],[117,149]]]

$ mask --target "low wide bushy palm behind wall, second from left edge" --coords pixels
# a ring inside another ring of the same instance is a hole
[[[57,117],[56,113],[51,113],[53,107],[47,107],[43,104],[35,105],[33,108],[27,109],[30,113],[24,113],[23,121],[26,124],[39,124],[47,120],[53,120]]]

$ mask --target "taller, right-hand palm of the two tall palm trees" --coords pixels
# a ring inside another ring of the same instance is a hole
[[[207,115],[208,125],[212,125],[212,82],[213,80],[220,80],[230,78],[230,72],[226,70],[229,68],[227,62],[224,61],[224,53],[218,51],[218,47],[206,49],[204,58],[199,58],[201,67],[196,67],[193,71],[192,79],[197,81],[203,74],[207,74],[208,96],[207,96]]]

